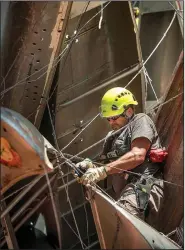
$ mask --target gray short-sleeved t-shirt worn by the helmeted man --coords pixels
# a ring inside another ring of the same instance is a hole
[[[103,154],[110,157],[110,161],[114,161],[129,152],[131,150],[131,143],[136,138],[147,138],[151,142],[150,149],[161,148],[156,127],[151,118],[144,113],[134,115],[130,122],[116,136],[112,136],[112,133],[114,131],[108,133],[103,150]],[[151,175],[159,169],[158,164],[147,162],[150,149],[147,152],[146,161],[132,169],[132,172]],[[118,179],[120,179],[120,174],[113,176],[113,183],[118,185],[118,182],[120,182]]]

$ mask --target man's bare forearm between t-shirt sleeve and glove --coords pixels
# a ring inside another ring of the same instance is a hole
[[[108,175],[119,173],[121,170],[131,170],[143,163],[144,158],[139,152],[130,151],[118,160],[107,164],[105,170]]]

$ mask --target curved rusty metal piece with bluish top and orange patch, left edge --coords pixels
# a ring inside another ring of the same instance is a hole
[[[53,171],[47,156],[47,147],[53,147],[17,112],[1,108],[0,139],[1,193],[28,176]]]

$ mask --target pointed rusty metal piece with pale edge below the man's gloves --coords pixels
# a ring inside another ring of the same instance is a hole
[[[179,249],[100,190],[90,188],[88,194],[102,249]]]

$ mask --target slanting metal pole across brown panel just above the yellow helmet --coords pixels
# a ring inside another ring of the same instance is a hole
[[[91,95],[92,93],[94,93],[94,92],[96,92],[96,91],[98,91],[98,90],[100,90],[100,89],[102,89],[102,88],[107,87],[107,86],[110,85],[111,83],[114,83],[114,82],[116,82],[116,81],[118,81],[118,80],[120,80],[120,79],[122,79],[122,78],[124,78],[124,77],[127,77],[127,76],[133,74],[134,72],[138,71],[139,69],[140,69],[140,65],[138,64],[138,65],[135,66],[133,69],[130,69],[130,70],[128,70],[127,72],[123,72],[123,73],[119,74],[118,76],[115,76],[115,77],[113,77],[112,79],[110,79],[110,80],[108,80],[108,81],[105,81],[105,82],[102,83],[100,86],[98,86],[98,87],[96,87],[96,88],[94,88],[94,89],[92,89],[92,90],[90,90],[90,91],[84,93],[83,95],[80,95],[80,96],[74,98],[73,100],[71,100],[71,101],[69,101],[69,102],[66,102],[66,103],[64,103],[64,104],[60,104],[60,105],[59,105],[59,108],[60,108],[60,107],[61,107],[61,108],[65,108],[65,107],[71,105],[72,103],[75,103],[75,102],[81,100],[82,98],[87,97],[88,95]]]

